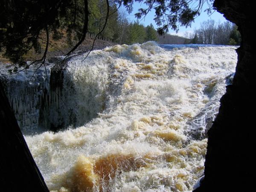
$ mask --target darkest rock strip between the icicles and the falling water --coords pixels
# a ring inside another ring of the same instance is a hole
[[[69,125],[77,125],[78,114],[74,110],[77,103],[70,99],[74,98],[76,90],[70,75],[66,67],[58,67],[56,64],[52,68],[49,90],[40,108],[39,127],[58,131]]]

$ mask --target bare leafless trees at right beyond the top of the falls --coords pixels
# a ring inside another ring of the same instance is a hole
[[[239,45],[240,42],[237,26],[230,21],[215,23],[214,20],[207,20],[192,34],[186,34],[186,43],[190,44]]]

